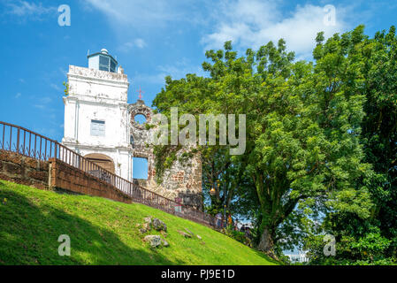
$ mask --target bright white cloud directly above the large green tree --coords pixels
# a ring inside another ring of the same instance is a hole
[[[259,0],[237,0],[223,4],[218,11],[214,32],[202,37],[205,49],[222,48],[225,41],[232,40],[240,48],[259,48],[267,42],[286,40],[288,50],[298,57],[308,58],[315,45],[318,32],[325,37],[344,31],[346,10],[336,9],[334,26],[326,25],[324,6],[297,5],[292,13],[283,16],[280,2]]]

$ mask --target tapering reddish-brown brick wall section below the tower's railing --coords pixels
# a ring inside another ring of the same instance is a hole
[[[132,203],[132,198],[120,192],[116,187],[54,158],[50,159],[50,187]]]

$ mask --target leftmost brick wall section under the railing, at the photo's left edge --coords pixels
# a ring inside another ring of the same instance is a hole
[[[49,163],[0,149],[0,179],[47,189]]]

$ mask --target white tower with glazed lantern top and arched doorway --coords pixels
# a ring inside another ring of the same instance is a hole
[[[128,80],[108,50],[88,55],[88,68],[69,66],[62,143],[80,155],[132,180],[127,112]],[[118,71],[118,73],[116,73]]]

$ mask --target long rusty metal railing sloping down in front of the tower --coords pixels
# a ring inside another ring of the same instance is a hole
[[[72,149],[66,148],[59,142],[51,140],[42,134],[34,133],[22,126],[0,121],[0,149],[16,152],[20,155],[42,161],[56,158],[117,187],[119,191],[132,197],[136,203],[146,204],[179,216],[180,218],[187,218],[208,226],[216,225],[215,218],[209,214],[177,203],[134,182],[125,180],[89,161],[87,158],[80,156],[80,154]]]

